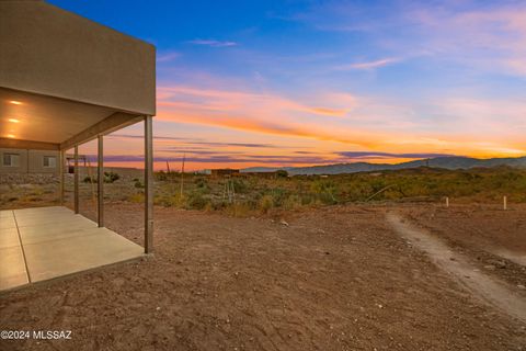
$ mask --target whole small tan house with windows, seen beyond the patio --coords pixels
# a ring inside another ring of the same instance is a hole
[[[0,173],[58,173],[59,151],[0,149]]]

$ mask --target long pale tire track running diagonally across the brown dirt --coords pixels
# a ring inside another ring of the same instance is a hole
[[[462,254],[453,251],[441,239],[404,223],[400,215],[388,213],[386,218],[397,234],[426,252],[438,267],[450,273],[473,295],[526,322],[526,301],[508,290],[504,283],[478,271]]]

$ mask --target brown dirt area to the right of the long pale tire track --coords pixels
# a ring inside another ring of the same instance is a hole
[[[526,285],[526,205],[408,206],[399,210],[411,223],[431,231],[480,270],[510,284]]]

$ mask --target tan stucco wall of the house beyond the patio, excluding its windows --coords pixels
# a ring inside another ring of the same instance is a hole
[[[16,154],[20,157],[19,167],[4,167],[3,154]],[[44,167],[44,156],[55,156],[57,163],[55,168]],[[0,173],[58,173],[58,151],[25,150],[25,149],[0,149]]]

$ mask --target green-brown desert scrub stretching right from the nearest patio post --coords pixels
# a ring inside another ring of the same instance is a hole
[[[156,173],[157,205],[186,210],[225,211],[233,215],[278,210],[378,202],[459,203],[526,202],[526,171],[513,168],[410,170],[339,176],[277,174],[213,178],[204,174]],[[182,189],[182,190],[181,190]],[[132,201],[141,201],[135,188]]]

